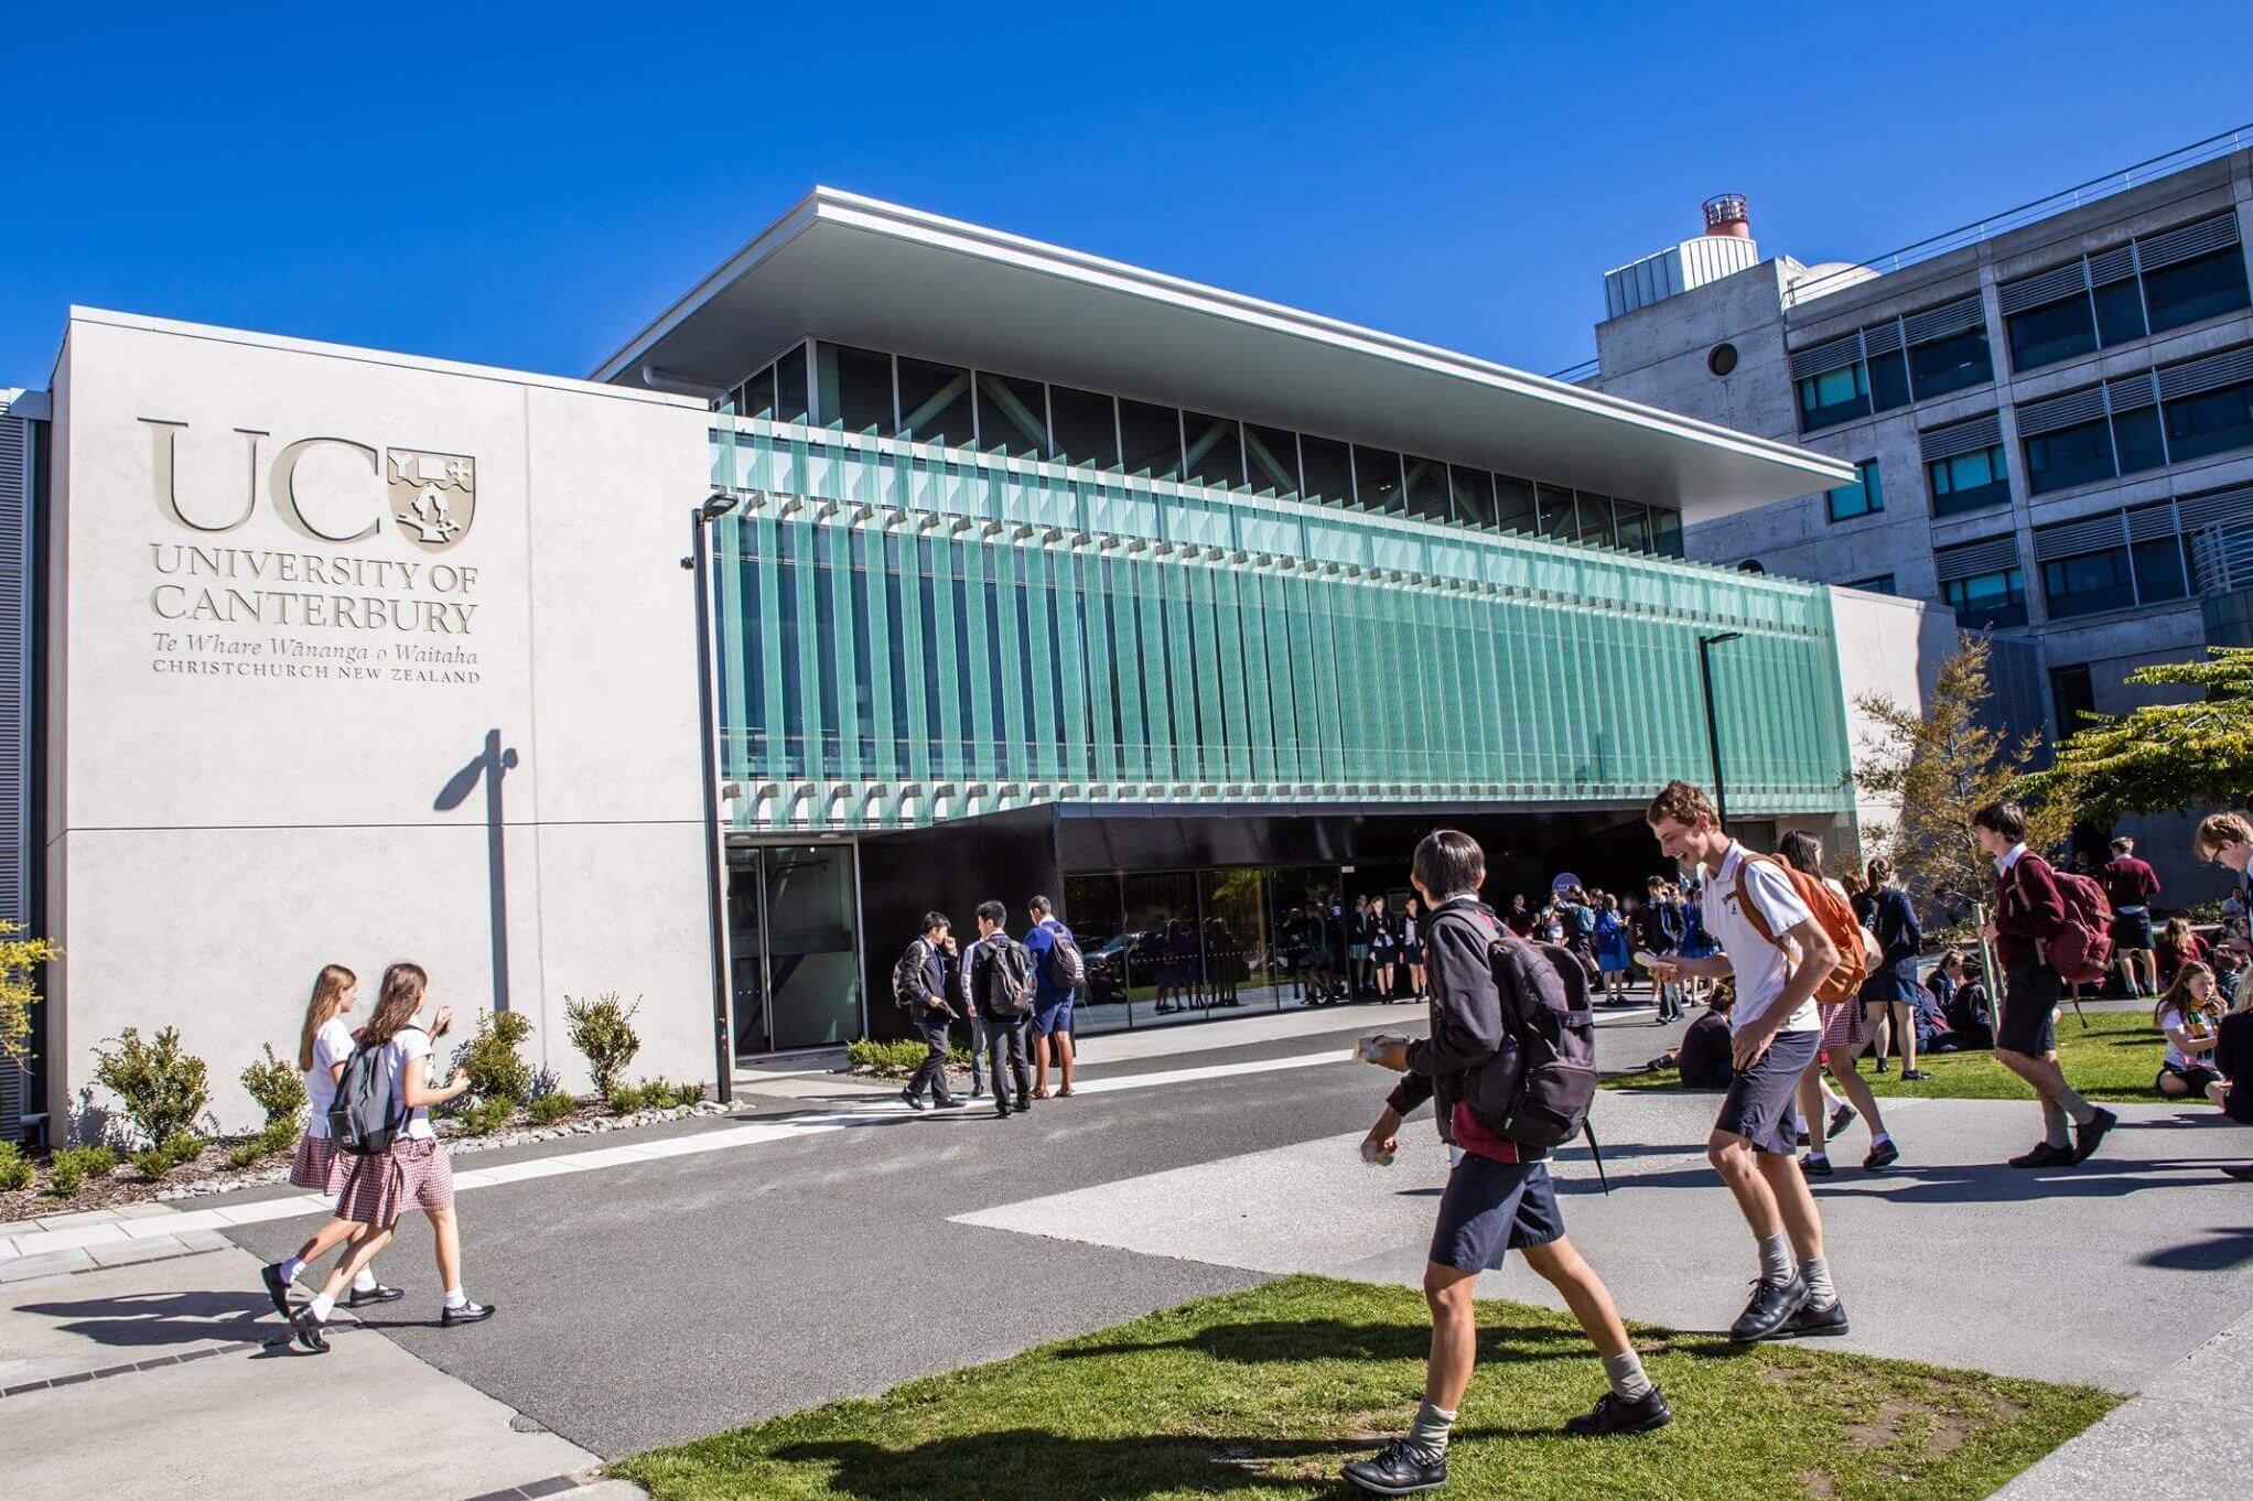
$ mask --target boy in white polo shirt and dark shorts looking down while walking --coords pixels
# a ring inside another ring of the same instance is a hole
[[[1642,820],[1667,859],[1706,868],[1706,929],[1721,942],[1712,958],[1665,960],[1658,978],[1737,978],[1728,1016],[1737,1075],[1706,1138],[1706,1158],[1760,1242],[1760,1285],[1728,1336],[1845,1334],[1845,1305],[1823,1260],[1823,1217],[1796,1156],[1796,1084],[1823,1041],[1814,994],[1838,949],[1782,865],[1721,832],[1701,789],[1667,782]]]

